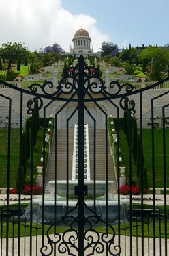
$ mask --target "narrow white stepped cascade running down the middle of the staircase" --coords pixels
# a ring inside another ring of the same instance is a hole
[[[78,179],[78,125],[74,125],[74,151],[72,156],[72,180]],[[90,180],[89,127],[84,125],[84,179]]]

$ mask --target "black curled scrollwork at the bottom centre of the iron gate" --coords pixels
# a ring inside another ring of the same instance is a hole
[[[40,250],[42,255],[52,255],[54,246],[57,244],[58,252],[61,254],[67,253],[67,255],[75,256],[76,253],[78,253],[78,214],[76,217],[71,215],[76,207],[78,207],[78,202],[70,212],[62,217],[61,220],[65,225],[70,223],[69,229],[64,231],[62,234],[55,233],[55,235],[52,235],[50,234],[50,230],[54,228],[54,225],[51,225],[48,228],[46,233],[48,243],[42,246]],[[84,253],[86,253],[86,255],[95,255],[95,253],[101,254],[105,251],[105,248],[108,248],[110,255],[119,255],[121,253],[121,248],[119,245],[114,244],[115,231],[113,227],[102,220],[102,215],[99,216],[96,212],[90,209],[85,202],[84,207],[91,213],[88,217],[84,216],[84,227],[87,227],[87,230],[84,231],[84,241],[87,242],[87,244],[84,245]],[[108,227],[109,232],[99,233],[93,229],[93,223],[94,225],[102,223],[102,225]],[[70,251],[70,248],[74,252]]]

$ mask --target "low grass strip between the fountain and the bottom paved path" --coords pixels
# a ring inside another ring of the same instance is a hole
[[[22,236],[30,236],[30,235],[42,235],[42,224],[36,224],[32,223],[32,227],[30,227],[29,222],[21,222],[20,223],[20,237]],[[27,225],[27,227],[26,227]],[[153,238],[153,222],[150,222],[149,225],[147,225],[147,222],[144,222],[144,238],[149,237]],[[164,228],[164,222],[156,222],[155,225],[155,238],[165,238],[165,228]],[[13,229],[14,227],[14,229]],[[26,228],[25,228],[26,227]],[[6,228],[7,223],[3,222],[0,227],[0,238],[6,238]],[[44,225],[44,235],[46,235],[47,231],[49,229],[49,233],[55,233],[54,227],[50,228],[50,225]],[[66,226],[57,226],[56,232],[57,233],[63,233],[64,231],[70,229],[70,227]],[[113,225],[113,229],[115,231],[115,234],[117,235],[119,233],[118,231],[118,225]],[[169,223],[167,223],[167,229],[169,229]],[[87,229],[86,229],[87,230]],[[95,227],[95,230],[99,233],[106,233],[106,227]],[[112,233],[112,229],[108,229],[108,233]],[[130,222],[127,222],[125,224],[121,223],[120,225],[120,234],[121,235],[130,235]],[[9,228],[7,232],[8,238],[16,238],[18,237],[18,224],[15,222],[15,225],[12,224],[12,222],[9,222]],[[141,222],[132,222],[132,235],[133,236],[142,236],[142,223]],[[167,238],[169,238],[169,233],[167,234]]]

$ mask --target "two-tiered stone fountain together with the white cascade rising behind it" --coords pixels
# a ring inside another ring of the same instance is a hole
[[[95,212],[102,216],[102,220],[106,220],[106,206],[108,206],[108,220],[114,222],[118,219],[118,200],[114,194],[114,182],[91,180],[90,176],[90,159],[89,159],[89,127],[84,125],[84,187],[87,188],[84,194],[84,215],[93,215],[91,212],[95,205]],[[49,181],[49,194],[45,194],[44,198],[44,220],[46,222],[54,222],[61,220],[61,216],[65,216],[68,211],[72,211],[70,215],[77,216],[78,207],[75,207],[78,201],[76,190],[78,188],[78,125],[74,125],[74,152],[72,161],[72,180]],[[68,194],[67,194],[68,182]],[[56,188],[56,191],[55,191]],[[106,193],[108,188],[108,193]],[[107,195],[106,195],[107,194]],[[106,196],[108,200],[106,201]],[[56,202],[55,202],[56,200]],[[68,207],[67,207],[68,202]],[[107,203],[107,205],[106,205]],[[123,209],[128,204],[128,200],[120,200],[121,219],[125,218]],[[55,211],[55,207],[57,208]],[[55,216],[56,214],[56,216]],[[33,218],[42,221],[42,199],[33,199]]]

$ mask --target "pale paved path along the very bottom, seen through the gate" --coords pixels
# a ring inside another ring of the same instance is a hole
[[[93,233],[90,233],[91,236],[93,236],[93,238],[95,238],[95,235],[93,235]],[[67,236],[68,238],[68,236]],[[46,251],[44,250],[44,255],[49,255],[48,253],[50,253],[50,245],[47,244],[47,239],[46,236],[44,237],[45,241],[44,244],[47,246]],[[121,236],[121,256],[130,256],[130,248],[129,248],[129,241],[130,238],[129,237],[124,237]],[[0,248],[0,255],[5,256],[6,255],[6,250],[5,250],[5,242],[6,240],[3,239],[1,240],[2,244],[2,251]],[[114,240],[115,244],[117,244],[117,238],[115,238]],[[162,239],[161,241],[161,246],[159,243],[159,239],[156,239],[156,256],[165,255],[165,248],[164,248],[164,239]],[[42,236],[38,236],[37,238],[33,237],[32,240],[32,255],[33,256],[40,256],[42,255],[42,253],[40,253],[40,248],[41,248],[41,244],[42,244]],[[168,245],[168,253],[169,253],[169,242],[167,243]],[[77,245],[77,244],[76,244]],[[18,256],[18,238],[14,238],[14,240],[12,240],[12,238],[9,239],[9,251],[8,251],[8,255],[7,256]],[[63,249],[64,246],[61,246],[61,248]],[[138,248],[136,250],[136,248]],[[77,255],[76,251],[74,251],[73,249],[71,249],[72,253],[74,253],[74,255]],[[13,253],[12,253],[13,251]],[[113,251],[113,250],[112,250]],[[114,250],[114,252],[117,253],[117,251]],[[2,254],[1,254],[2,253]],[[87,251],[87,254],[85,255],[89,255],[89,253],[91,253],[91,249],[89,248],[89,250]],[[136,256],[141,256],[142,255],[142,240],[141,238],[136,238],[133,237],[132,238],[132,255]],[[29,256],[30,255],[30,239],[27,237],[25,238],[20,238],[20,256]],[[54,253],[52,253],[51,255],[55,255]],[[65,253],[58,253],[58,256],[64,255],[67,256],[68,253],[67,251]],[[98,255],[106,255],[105,251],[104,253],[94,253],[95,256]],[[109,254],[110,255],[110,254]],[[144,238],[144,256],[154,256],[153,254],[153,238],[150,238],[149,240],[147,238]]]

